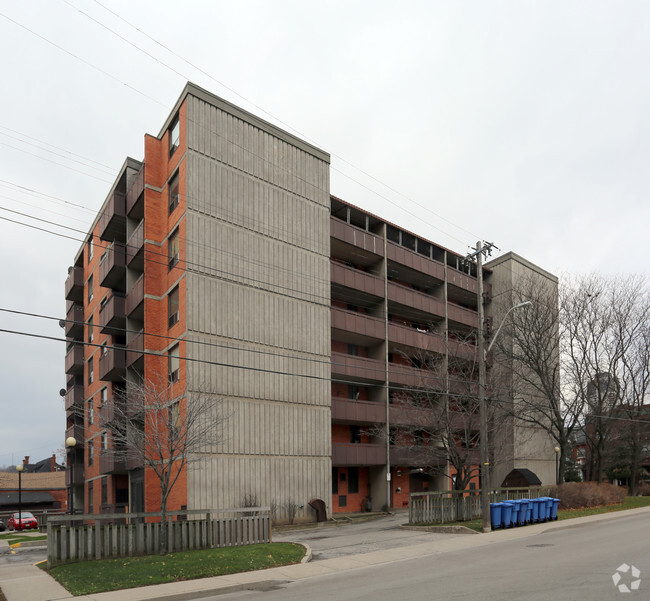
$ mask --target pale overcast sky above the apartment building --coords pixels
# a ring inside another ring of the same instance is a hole
[[[1,309],[63,318],[80,246],[6,219],[83,238],[7,209],[87,231],[187,80],[330,152],[332,194],[456,252],[648,273],[648,2],[29,0],[0,5],[0,44]],[[0,466],[43,459],[65,345],[0,332],[0,354]]]

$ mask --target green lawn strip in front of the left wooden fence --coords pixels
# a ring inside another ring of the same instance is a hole
[[[56,566],[49,570],[49,574],[76,596],[250,572],[298,563],[304,555],[305,549],[300,545],[269,543],[184,551],[165,556],[84,561]],[[46,569],[45,562],[38,565]]]

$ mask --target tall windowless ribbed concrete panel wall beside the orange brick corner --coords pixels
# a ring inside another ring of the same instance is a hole
[[[227,108],[188,97],[187,384],[226,418],[188,503],[307,518],[331,497],[329,164]]]

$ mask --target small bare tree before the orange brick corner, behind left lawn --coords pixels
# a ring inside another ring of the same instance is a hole
[[[160,554],[167,552],[167,502],[179,476],[197,452],[214,444],[224,416],[207,392],[179,391],[167,380],[129,382],[100,413],[107,430],[106,457],[151,470],[160,484]],[[108,410],[106,410],[108,409]]]

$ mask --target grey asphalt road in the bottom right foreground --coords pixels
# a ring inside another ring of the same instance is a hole
[[[479,543],[479,536],[476,536]],[[416,560],[339,572],[214,601],[626,601],[650,599],[650,514],[558,528]],[[622,565],[619,585],[612,576]],[[275,589],[275,590],[274,590]],[[205,601],[205,597],[203,600]]]

